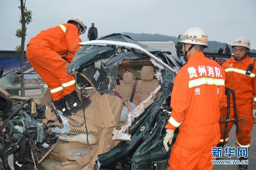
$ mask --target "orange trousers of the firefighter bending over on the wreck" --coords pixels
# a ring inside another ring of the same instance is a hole
[[[67,75],[66,72],[68,62],[59,54],[48,47],[29,44],[26,56],[34,70],[49,86],[53,101],[76,90],[75,77],[71,74]]]

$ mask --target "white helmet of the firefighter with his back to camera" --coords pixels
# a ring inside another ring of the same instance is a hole
[[[202,45],[204,48],[208,46],[208,38],[206,32],[199,27],[192,27],[179,36],[179,43]]]

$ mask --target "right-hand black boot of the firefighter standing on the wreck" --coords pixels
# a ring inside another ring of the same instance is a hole
[[[68,102],[68,107],[70,108],[70,111],[73,113],[76,113],[76,111],[84,107],[84,104],[80,101],[78,95],[76,94],[76,90],[64,96],[64,98]]]

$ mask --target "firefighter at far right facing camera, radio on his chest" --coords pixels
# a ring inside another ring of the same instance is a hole
[[[236,145],[239,147],[250,147],[251,131],[253,129],[253,116],[256,113],[256,106],[253,109],[253,102],[256,102],[256,67],[254,60],[250,59],[247,53],[250,50],[250,41],[246,37],[238,37],[232,44],[234,57],[223,63],[222,67],[226,72],[226,87],[235,90],[235,98],[237,105],[238,121],[240,131],[236,131]],[[256,103],[255,103],[256,104]],[[230,105],[233,108],[233,100],[231,95]],[[227,108],[221,110],[220,120],[225,120]],[[233,119],[234,110],[230,109],[229,119]],[[229,131],[233,126],[233,122],[228,122],[226,143],[229,140]],[[218,147],[223,147],[224,143],[225,123],[220,124],[221,139]],[[246,160],[245,157],[240,157]],[[247,169],[247,165],[239,165],[239,169]]]

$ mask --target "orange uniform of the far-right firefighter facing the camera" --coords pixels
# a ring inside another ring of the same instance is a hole
[[[238,118],[242,118],[238,121],[240,131],[236,131],[236,145],[239,147],[249,147],[251,141],[251,133],[253,129],[253,96],[256,97],[256,66],[254,66],[250,75],[246,75],[245,72],[249,64],[253,64],[253,60],[245,56],[241,62],[237,62],[234,58],[231,58],[223,63],[222,67],[226,72],[226,87],[235,90],[235,99],[237,104]],[[254,98],[254,103],[256,98]],[[256,104],[256,103],[255,103]],[[233,106],[233,100],[231,95],[230,105]],[[254,106],[255,108],[255,106]],[[224,107],[221,110],[220,120],[225,120],[227,115],[227,108]],[[234,110],[230,108],[229,119],[233,119]],[[226,142],[228,142],[229,131],[233,126],[233,122],[228,122]],[[220,124],[221,139],[220,143],[224,142],[224,128],[225,123]]]

